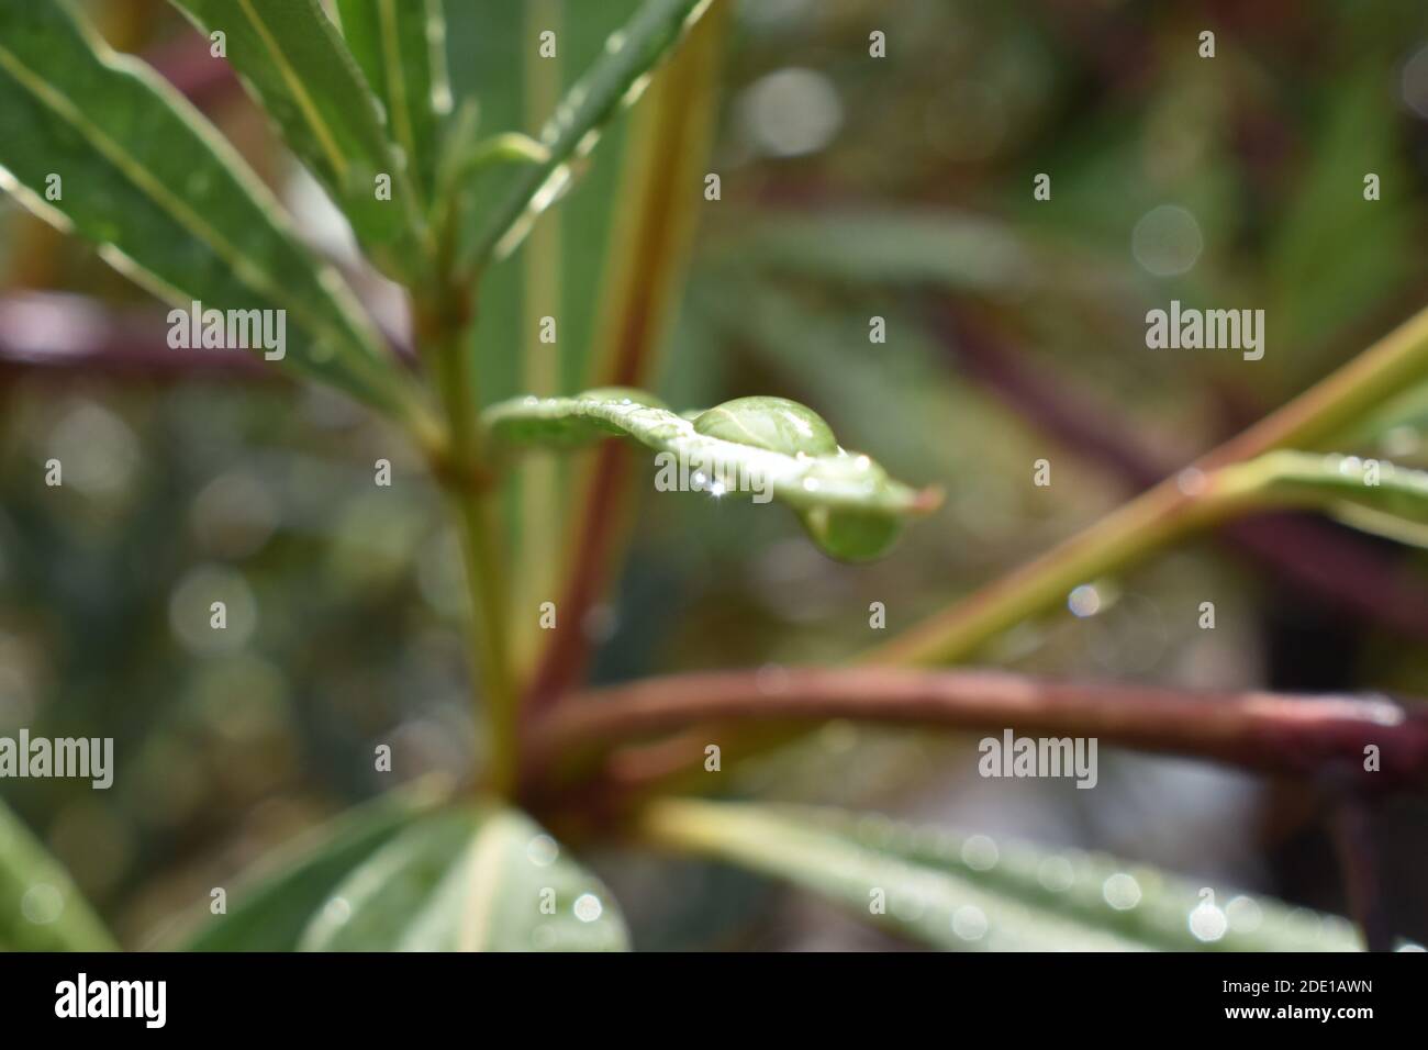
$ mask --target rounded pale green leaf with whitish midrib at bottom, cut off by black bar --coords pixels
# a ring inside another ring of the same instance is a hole
[[[336,887],[301,939],[310,951],[621,951],[608,891],[528,817],[433,814]]]

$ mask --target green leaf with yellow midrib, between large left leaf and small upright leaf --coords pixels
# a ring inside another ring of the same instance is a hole
[[[383,131],[381,110],[317,0],[173,0],[206,33],[227,36],[227,59],[293,153],[351,220],[373,260],[420,274],[421,201],[408,156]],[[391,180],[391,199],[377,179]]]

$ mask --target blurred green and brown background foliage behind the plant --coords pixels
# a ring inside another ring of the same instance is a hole
[[[531,3],[564,19],[571,77],[631,7]],[[544,89],[486,31],[487,4],[447,6],[457,94],[480,94],[484,130],[537,130]],[[89,7],[218,123],[304,236],[356,266],[321,191],[173,9]],[[1204,30],[1214,59],[1200,57]],[[521,39],[518,17],[510,31]],[[885,59],[870,57],[873,31]],[[1094,521],[1428,303],[1418,0],[753,0],[721,63],[658,393],[678,409],[804,401],[947,501],[887,560],[847,567],[793,516],[655,496],[653,471],[638,474],[630,557],[587,621],[597,681],[845,657]],[[547,217],[558,244],[533,239],[483,290],[491,339],[523,303],[543,311],[531,253],[558,251],[564,294],[588,297],[620,210],[640,204],[615,191],[627,123]],[[718,201],[703,200],[704,171],[720,174]],[[1032,199],[1038,173],[1048,201]],[[401,341],[400,296],[353,280]],[[1147,350],[1145,311],[1171,299],[1264,309],[1264,360]],[[870,343],[871,317],[885,343]],[[561,340],[578,344],[580,324]],[[0,201],[0,733],[111,736],[119,763],[109,791],[7,780],[4,801],[133,947],[303,827],[481,759],[458,554],[414,450],[336,394],[169,350],[164,334],[164,307]],[[540,393],[580,386],[545,379]],[[486,391],[518,389],[497,371]],[[1428,390],[1404,391],[1338,450],[1428,466],[1425,419]],[[43,481],[51,457],[59,489]],[[391,490],[371,483],[378,457]],[[1031,484],[1038,459],[1050,489]],[[228,629],[196,630],[220,597]],[[885,634],[870,630],[873,601]],[[1214,630],[1198,626],[1202,601]],[[1318,520],[1254,520],[1088,581],[978,661],[1428,696],[1428,559]],[[393,774],[373,771],[377,743]],[[975,757],[975,739],[833,724],[741,770],[735,790],[1104,849],[1348,910],[1345,843],[1312,790],[1104,749],[1100,786],[1078,791],[984,781]],[[1421,800],[1392,800],[1352,847],[1372,850],[1384,909],[1419,941],[1425,817]],[[724,870],[591,860],[633,901],[637,947],[891,943]]]

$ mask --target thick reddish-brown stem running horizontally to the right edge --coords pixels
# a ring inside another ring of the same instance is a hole
[[[827,719],[1097,737],[1271,774],[1309,777],[1338,769],[1362,791],[1428,784],[1428,707],[1412,701],[1192,693],[984,670],[805,667],[648,679],[573,697],[536,723],[527,743],[541,766],[700,723]],[[1371,744],[1378,747],[1378,771],[1364,769]],[[691,747],[685,761],[697,764],[703,746],[691,739]],[[735,756],[725,749],[724,757]]]

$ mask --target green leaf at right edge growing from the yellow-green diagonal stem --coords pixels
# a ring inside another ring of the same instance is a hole
[[[1354,529],[1428,547],[1428,471],[1388,461],[1274,451],[1217,470],[1207,499],[1312,507]]]

